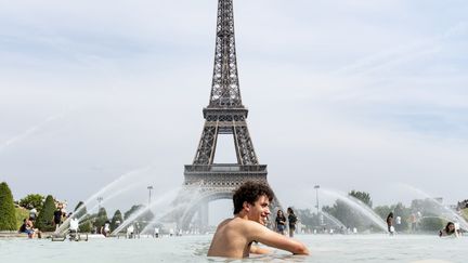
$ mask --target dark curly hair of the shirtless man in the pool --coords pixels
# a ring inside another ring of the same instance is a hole
[[[242,211],[245,201],[253,205],[260,196],[266,196],[270,201],[274,198],[273,190],[266,184],[251,181],[245,182],[234,192],[234,214]]]

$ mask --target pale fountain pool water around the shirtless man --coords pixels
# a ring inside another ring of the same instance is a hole
[[[468,237],[399,235],[298,235],[311,255],[275,250],[246,260],[207,258],[211,236],[140,239],[0,239],[0,262],[468,262]]]

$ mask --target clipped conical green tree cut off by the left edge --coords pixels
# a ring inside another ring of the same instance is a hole
[[[0,183],[0,231],[16,231],[13,195],[5,182]]]

